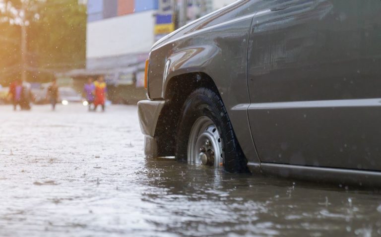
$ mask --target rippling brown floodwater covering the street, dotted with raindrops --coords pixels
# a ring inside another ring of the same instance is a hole
[[[379,236],[381,194],[145,159],[134,106],[0,107],[0,236]]]

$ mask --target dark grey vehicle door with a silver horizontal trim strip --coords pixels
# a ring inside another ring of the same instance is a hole
[[[249,118],[262,162],[381,170],[381,2],[254,17]]]

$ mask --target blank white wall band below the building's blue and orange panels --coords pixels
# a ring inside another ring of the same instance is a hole
[[[88,22],[86,58],[149,52],[154,43],[154,13],[149,10]]]

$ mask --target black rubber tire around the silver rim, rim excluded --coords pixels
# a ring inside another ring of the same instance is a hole
[[[196,89],[184,103],[176,139],[176,158],[187,161],[191,128],[194,122],[203,116],[211,119],[220,131],[224,170],[229,173],[249,172],[247,160],[237,141],[223,102],[219,95],[207,88]]]

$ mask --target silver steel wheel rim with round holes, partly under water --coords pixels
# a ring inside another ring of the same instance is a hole
[[[188,163],[211,167],[223,166],[223,150],[220,132],[206,116],[197,119],[188,142]]]

